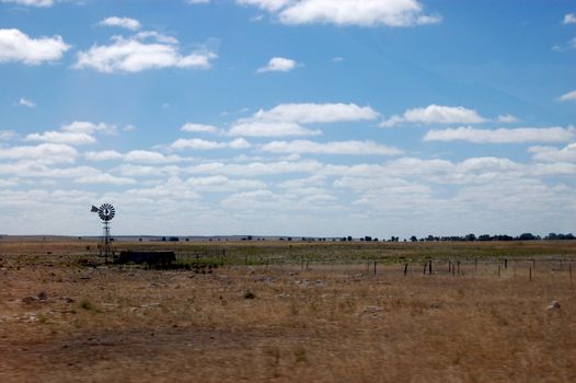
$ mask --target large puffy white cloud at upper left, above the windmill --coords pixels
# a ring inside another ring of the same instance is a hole
[[[187,56],[178,46],[166,43],[142,43],[137,37],[116,36],[111,45],[94,45],[78,54],[73,68],[91,68],[100,72],[140,72],[161,68],[208,69],[216,54],[197,50]]]

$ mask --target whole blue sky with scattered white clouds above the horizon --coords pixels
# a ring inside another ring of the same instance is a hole
[[[576,1],[0,0],[0,232],[576,232]]]

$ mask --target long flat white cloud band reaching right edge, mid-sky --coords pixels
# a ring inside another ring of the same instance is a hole
[[[516,129],[475,129],[460,127],[456,129],[430,130],[424,141],[469,141],[474,143],[525,143],[525,142],[564,142],[574,139],[574,127],[516,128]]]

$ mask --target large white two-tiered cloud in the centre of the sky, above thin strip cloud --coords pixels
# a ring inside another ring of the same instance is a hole
[[[250,118],[238,119],[228,135],[250,137],[319,136],[301,124],[329,124],[370,120],[378,113],[369,106],[356,104],[280,104],[272,109],[260,109]]]

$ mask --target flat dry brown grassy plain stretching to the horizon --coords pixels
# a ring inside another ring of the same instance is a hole
[[[0,382],[576,381],[576,242],[116,247],[219,267],[0,240]]]

